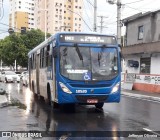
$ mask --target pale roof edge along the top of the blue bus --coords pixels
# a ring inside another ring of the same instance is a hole
[[[32,49],[29,53],[28,56],[30,56],[32,53],[36,52],[37,50],[43,48],[46,44],[48,44],[49,42],[51,42],[52,40],[54,40],[55,38],[59,37],[59,35],[62,34],[68,34],[68,35],[96,35],[96,36],[110,36],[110,37],[115,37],[115,35],[107,35],[107,34],[99,34],[99,33],[95,33],[95,32],[90,32],[90,33],[86,33],[86,32],[58,32],[54,35],[52,35],[51,37],[49,37],[48,39],[46,39],[45,41],[43,41],[42,43],[40,43],[38,46],[36,46],[34,49]],[[115,37],[116,38],[116,37]]]

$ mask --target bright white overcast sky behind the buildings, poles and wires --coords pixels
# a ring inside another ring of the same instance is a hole
[[[1,0],[0,0],[1,1]],[[84,11],[83,18],[86,21],[84,24],[84,31],[88,32],[93,30],[93,3],[94,0],[83,0],[84,1]],[[116,2],[116,0],[115,0]],[[122,2],[122,19],[140,12],[155,11],[160,9],[160,0],[121,0]],[[4,16],[3,9],[0,9],[0,23],[9,24],[9,0],[4,0]],[[1,6],[2,7],[2,6]],[[103,33],[105,34],[115,34],[116,35],[116,17],[117,17],[117,7],[116,5],[111,5],[107,3],[107,0],[97,0],[97,16],[105,16],[103,25]],[[88,27],[89,26],[89,27]],[[97,26],[100,26],[100,18],[97,18]],[[90,28],[90,29],[89,29]],[[0,24],[0,39],[4,38],[8,33],[3,33],[8,30],[7,26]],[[97,27],[97,31],[100,28]],[[124,29],[122,30],[124,34]]]

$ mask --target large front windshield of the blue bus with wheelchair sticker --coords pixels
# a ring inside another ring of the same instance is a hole
[[[111,80],[118,75],[116,48],[60,47],[60,73],[70,80]]]

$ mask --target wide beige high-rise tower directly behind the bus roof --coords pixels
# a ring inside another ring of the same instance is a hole
[[[83,0],[35,0],[36,28],[51,34],[81,32],[82,3]]]

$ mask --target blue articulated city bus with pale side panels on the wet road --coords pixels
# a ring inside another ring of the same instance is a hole
[[[115,36],[56,33],[28,53],[32,91],[54,104],[120,102],[121,58]]]

